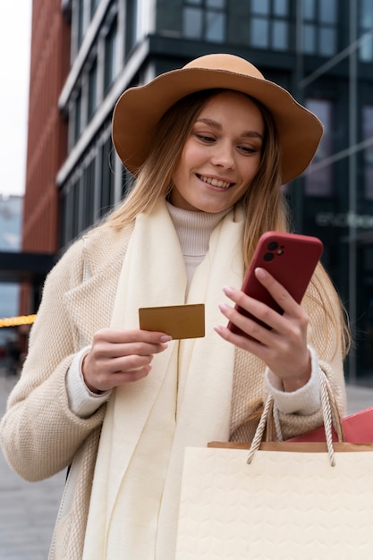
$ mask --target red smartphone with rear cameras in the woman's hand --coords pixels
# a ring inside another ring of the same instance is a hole
[[[257,267],[265,268],[284,286],[297,303],[301,303],[322,251],[323,244],[317,237],[297,233],[264,233],[259,239],[249,270],[243,280],[242,292],[283,314],[284,310],[259,283],[254,270]],[[246,310],[242,310],[240,306],[236,305],[235,309],[242,315],[257,321],[263,327],[270,328]],[[249,336],[231,322],[228,323],[228,328],[237,335]]]

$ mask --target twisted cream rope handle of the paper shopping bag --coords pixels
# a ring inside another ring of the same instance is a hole
[[[324,420],[327,454],[329,456],[330,465],[334,467],[335,450],[333,446],[332,428],[333,427],[335,428],[336,434],[338,436],[338,441],[343,441],[344,440],[343,423],[342,423],[341,415],[338,412],[338,409],[334,402],[329,381],[326,378],[325,373],[320,368],[318,369],[318,378],[320,384],[321,410],[322,410],[323,420]],[[276,412],[275,410],[273,410],[274,408],[276,407],[274,407],[273,396],[268,395],[267,401],[264,406],[264,411],[262,412],[262,415],[259,420],[258,428],[256,429],[254,438],[250,445],[250,451],[246,460],[248,464],[252,462],[255,452],[259,450],[260,444],[263,441],[264,431],[266,429],[267,421],[271,412],[274,414],[276,434],[279,435],[281,434],[278,415],[276,419]]]

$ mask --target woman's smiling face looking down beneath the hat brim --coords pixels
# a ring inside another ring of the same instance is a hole
[[[265,126],[250,98],[224,91],[200,111],[175,165],[170,202],[221,212],[250,188],[259,169]]]

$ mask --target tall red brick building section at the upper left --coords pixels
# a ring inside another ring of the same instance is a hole
[[[67,123],[58,98],[70,67],[70,24],[61,0],[33,0],[29,128],[22,250],[55,252],[59,197],[55,176],[67,154]],[[21,286],[21,314],[30,313],[30,287]]]

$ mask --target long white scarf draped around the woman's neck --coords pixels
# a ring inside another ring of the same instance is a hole
[[[227,440],[234,347],[222,323],[222,287],[242,284],[243,212],[211,235],[185,301],[182,250],[165,201],[136,219],[111,327],[137,328],[139,307],[205,302],[206,336],[172,341],[148,377],[117,388],[97,454],[83,560],[174,560],[183,450]]]

